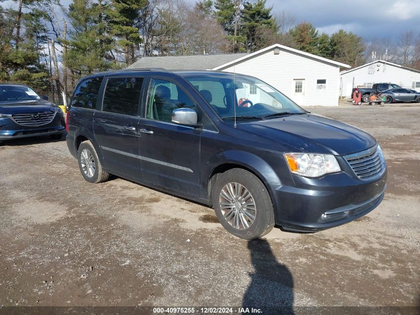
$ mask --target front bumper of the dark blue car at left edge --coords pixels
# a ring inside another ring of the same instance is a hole
[[[65,129],[66,122],[62,114],[57,114],[50,123],[37,127],[23,126],[10,118],[0,118],[0,140],[60,134]]]

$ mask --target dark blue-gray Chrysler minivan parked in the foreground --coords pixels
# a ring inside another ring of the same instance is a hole
[[[250,76],[95,74],[79,82],[67,115],[67,144],[85,180],[115,174],[204,203],[245,239],[274,225],[340,225],[384,197],[387,167],[375,138]]]

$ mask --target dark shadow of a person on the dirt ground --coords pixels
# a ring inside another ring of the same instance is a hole
[[[254,272],[244,294],[242,307],[261,309],[263,314],[294,314],[293,277],[289,269],[277,262],[265,239],[248,242]],[[246,311],[244,311],[245,313]]]

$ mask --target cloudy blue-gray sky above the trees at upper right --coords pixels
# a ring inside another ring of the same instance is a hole
[[[273,11],[291,12],[297,21],[307,21],[320,32],[342,28],[369,40],[398,40],[412,29],[420,33],[420,0],[267,0]]]

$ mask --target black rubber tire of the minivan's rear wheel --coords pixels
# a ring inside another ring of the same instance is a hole
[[[89,165],[94,166],[94,171],[92,172],[89,172],[87,170],[88,169],[87,166],[85,170],[84,170],[84,167],[82,166],[82,161],[86,160],[86,158],[83,155],[88,154],[88,153],[90,153],[90,155],[87,156],[90,163]],[[90,159],[90,157],[92,159]],[[82,176],[84,177],[86,181],[90,183],[101,183],[101,182],[106,181],[109,178],[109,173],[102,170],[102,166],[100,165],[96,150],[89,140],[85,140],[80,144],[79,149],[78,149],[78,162],[79,162],[80,172],[82,173]]]

